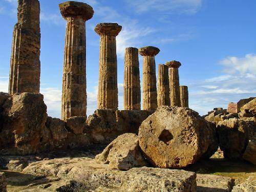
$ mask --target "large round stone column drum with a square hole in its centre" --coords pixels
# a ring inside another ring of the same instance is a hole
[[[188,108],[162,106],[142,122],[139,142],[154,166],[180,168],[218,149],[215,127]]]

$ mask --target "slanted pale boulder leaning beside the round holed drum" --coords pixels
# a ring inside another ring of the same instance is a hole
[[[120,170],[147,165],[140,152],[139,138],[133,133],[118,136],[95,159],[98,163],[109,164],[110,168]]]

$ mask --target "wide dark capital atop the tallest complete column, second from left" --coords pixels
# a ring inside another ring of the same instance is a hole
[[[67,17],[81,17],[84,21],[89,20],[93,17],[94,11],[93,8],[81,2],[68,1],[62,4],[59,4],[59,9],[61,15],[66,19]]]

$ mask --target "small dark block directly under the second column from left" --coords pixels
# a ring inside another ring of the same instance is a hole
[[[75,135],[83,134],[86,129],[86,117],[71,117],[67,119],[66,128]]]

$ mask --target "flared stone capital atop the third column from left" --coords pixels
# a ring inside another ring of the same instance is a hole
[[[117,23],[100,23],[96,25],[94,31],[98,33],[98,35],[111,35],[117,36],[119,32],[122,30],[122,26]]]

